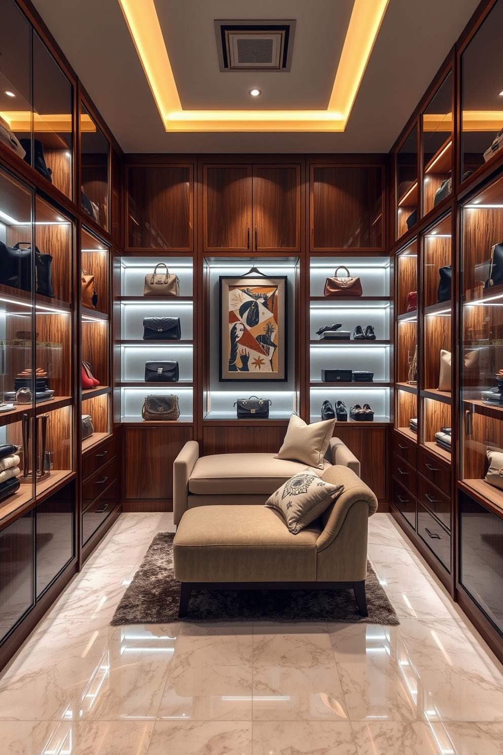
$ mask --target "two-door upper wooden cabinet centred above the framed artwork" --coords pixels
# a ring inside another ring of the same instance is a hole
[[[204,251],[299,251],[300,165],[204,165]]]

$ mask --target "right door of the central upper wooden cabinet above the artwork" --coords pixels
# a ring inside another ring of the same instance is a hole
[[[300,250],[300,165],[253,165],[253,251]]]

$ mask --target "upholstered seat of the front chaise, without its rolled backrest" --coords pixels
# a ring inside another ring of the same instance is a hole
[[[292,535],[275,511],[261,506],[190,509],[173,543],[175,578],[181,582],[315,581],[317,538],[313,522]],[[248,554],[248,555],[247,555]]]

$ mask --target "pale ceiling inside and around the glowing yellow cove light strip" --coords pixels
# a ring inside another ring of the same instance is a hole
[[[388,152],[479,0],[390,0],[344,133],[167,134],[118,0],[32,0],[124,152]],[[155,0],[182,106],[327,106],[353,0]],[[291,72],[220,72],[215,19],[296,19]],[[250,83],[251,82],[251,83]],[[262,83],[263,82],[263,83]]]

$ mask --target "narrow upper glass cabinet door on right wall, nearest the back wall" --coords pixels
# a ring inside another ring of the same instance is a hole
[[[397,153],[397,239],[418,221],[418,125]]]

